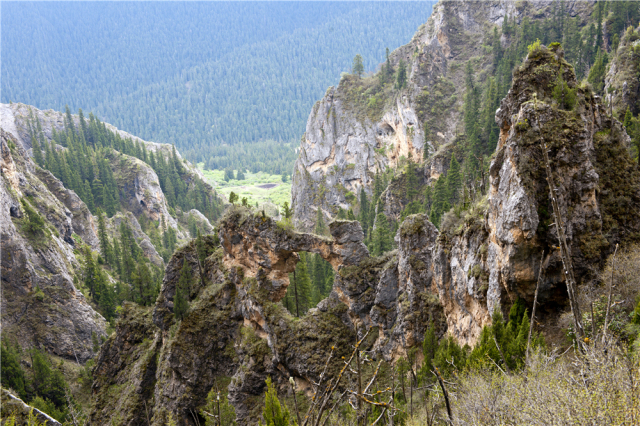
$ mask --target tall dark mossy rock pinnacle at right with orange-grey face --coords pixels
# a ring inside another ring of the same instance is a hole
[[[560,73],[575,90],[573,107],[553,97]],[[449,332],[460,341],[474,343],[494,309],[506,311],[517,298],[531,305],[541,261],[543,312],[566,303],[542,149],[579,284],[594,279],[616,243],[640,235],[640,172],[624,128],[600,102],[578,86],[557,48],[543,46],[515,71],[496,113],[500,141],[488,198],[443,220],[434,256]]]

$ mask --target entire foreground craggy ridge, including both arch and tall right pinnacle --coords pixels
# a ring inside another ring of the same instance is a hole
[[[413,402],[400,400],[397,380],[433,384],[434,365],[456,382],[461,376],[453,371],[488,363],[522,368],[536,272],[542,271],[538,321],[551,328],[566,301],[549,194],[565,218],[581,286],[594,279],[611,246],[640,235],[633,214],[640,208],[640,170],[629,137],[591,87],[577,82],[563,55],[558,44],[536,43],[515,70],[495,117],[500,139],[488,194],[447,212],[440,230],[425,214],[409,215],[395,233],[397,249],[377,255],[355,220],[334,220],[328,235],[315,235],[261,211],[229,208],[217,234],[174,254],[153,308],[125,305],[96,364],[92,420],[103,423],[117,412],[121,423],[133,425],[149,407],[152,425],[198,424],[220,401],[226,421],[260,424],[269,415],[265,384],[273,384],[289,407],[307,404],[301,416],[310,407],[316,423],[324,415],[350,424],[356,415],[379,416],[376,407],[354,409],[344,397],[358,389],[357,367],[345,367],[356,353],[367,361],[361,367],[368,383],[396,386],[398,407]],[[573,94],[570,104],[558,100],[557,87]],[[614,208],[616,199],[627,202]],[[329,262],[335,281],[317,308],[297,318],[283,301],[296,280],[290,274],[304,263],[299,253]],[[534,335],[532,346],[540,342]],[[418,368],[421,346],[425,361]],[[378,375],[381,365],[392,373]],[[613,399],[613,415],[624,417],[620,407],[630,397]],[[323,411],[327,401],[341,409]]]

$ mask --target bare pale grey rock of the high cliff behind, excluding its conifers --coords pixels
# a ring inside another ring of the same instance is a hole
[[[338,208],[348,209],[364,187],[370,195],[373,176],[401,158],[421,162],[427,142],[436,155],[422,168],[424,179],[437,178],[448,167],[451,149],[462,126],[464,65],[474,59],[479,82],[483,82],[493,59],[483,50],[491,44],[488,25],[502,24],[509,15],[520,23],[528,16],[550,15],[552,1],[476,2],[441,1],[433,7],[427,23],[411,42],[390,55],[397,69],[407,66],[406,87],[397,90],[393,82],[380,85],[379,76],[360,79],[344,76],[338,87],[330,87],[318,101],[307,121],[300,154],[292,178],[292,201],[298,229],[313,229],[317,208],[325,220]],[[566,2],[571,16],[586,17],[593,2]],[[503,44],[509,39],[503,36]],[[387,77],[393,79],[394,76]]]

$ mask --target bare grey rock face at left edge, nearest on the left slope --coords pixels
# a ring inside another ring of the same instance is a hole
[[[92,333],[105,336],[106,324],[73,285],[79,262],[71,236],[80,231],[86,244],[95,245],[93,221],[75,193],[48,172],[36,173],[22,146],[0,129],[2,332],[24,347],[84,362],[94,355]],[[45,220],[38,235],[24,230],[23,197]]]

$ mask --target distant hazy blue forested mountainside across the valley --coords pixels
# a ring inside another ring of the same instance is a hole
[[[292,169],[308,114],[435,2],[5,2],[2,102],[83,108],[212,169]]]

